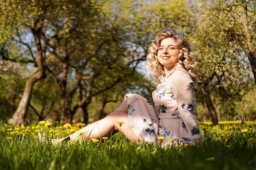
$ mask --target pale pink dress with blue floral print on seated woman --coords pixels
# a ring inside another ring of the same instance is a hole
[[[137,94],[126,94],[128,117],[133,132],[142,141],[162,146],[195,144],[201,136],[196,119],[195,91],[189,73],[180,65],[171,70],[153,91],[154,105]]]

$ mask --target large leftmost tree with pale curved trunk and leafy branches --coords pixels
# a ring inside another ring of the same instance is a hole
[[[45,77],[47,40],[43,38],[47,36],[47,33],[44,32],[43,27],[49,20],[47,18],[50,16],[47,15],[49,7],[50,3],[47,0],[1,2],[0,34],[4,40],[0,52],[2,58],[26,63],[32,62],[37,67],[25,84],[20,104],[13,114],[13,125],[23,124],[32,87],[35,82]],[[15,47],[20,48],[15,50]]]

